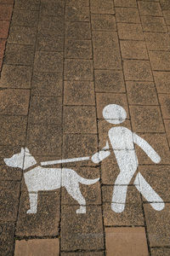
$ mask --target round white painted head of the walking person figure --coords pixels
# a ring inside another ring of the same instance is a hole
[[[124,122],[127,118],[127,113],[121,106],[110,104],[103,109],[103,116],[107,122],[118,125]]]

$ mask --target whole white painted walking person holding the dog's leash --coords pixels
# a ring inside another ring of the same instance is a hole
[[[103,116],[107,122],[119,125],[127,118],[127,113],[121,106],[111,104],[103,109]],[[123,212],[126,203],[127,185],[139,166],[134,143],[142,148],[154,163],[159,163],[161,158],[150,147],[149,143],[126,127],[112,127],[108,132],[108,136],[120,169],[113,189],[111,209],[114,212]],[[109,143],[106,142],[105,148],[102,148],[99,153],[94,154],[92,160],[94,163],[99,163],[110,154]],[[156,191],[150,187],[150,184],[145,181],[139,172],[135,177],[134,185],[156,211],[161,211],[164,208],[165,205],[161,197],[156,194]]]

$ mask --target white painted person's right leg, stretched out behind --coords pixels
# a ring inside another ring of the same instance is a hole
[[[144,198],[150,202],[150,206],[156,211],[161,211],[165,204],[161,197],[157,195],[156,191],[150,187],[150,184],[146,182],[142,174],[139,172],[135,177],[135,181],[139,180],[139,186],[135,185],[139,192],[144,196]]]

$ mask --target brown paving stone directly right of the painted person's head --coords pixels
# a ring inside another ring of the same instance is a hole
[[[161,111],[156,106],[130,106],[134,132],[163,132]]]

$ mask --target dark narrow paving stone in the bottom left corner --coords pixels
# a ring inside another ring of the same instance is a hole
[[[2,256],[12,256],[14,253],[14,223],[0,223],[0,252]]]

